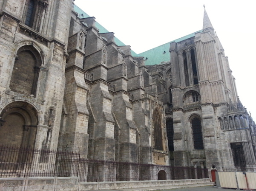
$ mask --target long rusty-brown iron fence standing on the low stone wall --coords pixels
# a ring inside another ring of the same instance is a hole
[[[207,169],[124,163],[80,157],[79,152],[0,146],[0,177],[78,177],[80,182],[208,178]]]

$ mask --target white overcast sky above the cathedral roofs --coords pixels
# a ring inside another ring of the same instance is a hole
[[[136,53],[201,30],[205,4],[229,58],[239,98],[256,121],[254,3],[253,0],[75,0],[77,6]]]

